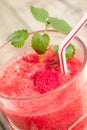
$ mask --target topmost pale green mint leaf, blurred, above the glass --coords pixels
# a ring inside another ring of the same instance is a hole
[[[46,23],[47,18],[49,17],[47,10],[45,10],[44,8],[36,8],[34,6],[31,6],[30,10],[31,10],[33,17],[37,21]]]

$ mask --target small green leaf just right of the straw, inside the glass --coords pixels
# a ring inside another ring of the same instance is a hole
[[[68,60],[72,58],[73,55],[75,54],[75,51],[76,51],[75,47],[72,44],[69,44],[65,51],[66,59]]]

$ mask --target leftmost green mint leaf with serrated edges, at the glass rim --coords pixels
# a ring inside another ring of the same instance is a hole
[[[18,30],[8,36],[8,41],[15,47],[21,48],[28,36],[29,33],[27,30]]]

